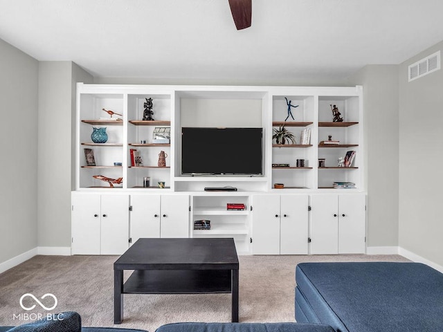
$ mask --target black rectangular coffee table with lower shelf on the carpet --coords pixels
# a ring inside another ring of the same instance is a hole
[[[114,263],[114,323],[123,294],[232,294],[238,322],[239,264],[233,239],[138,239]],[[123,283],[123,270],[134,270]]]

